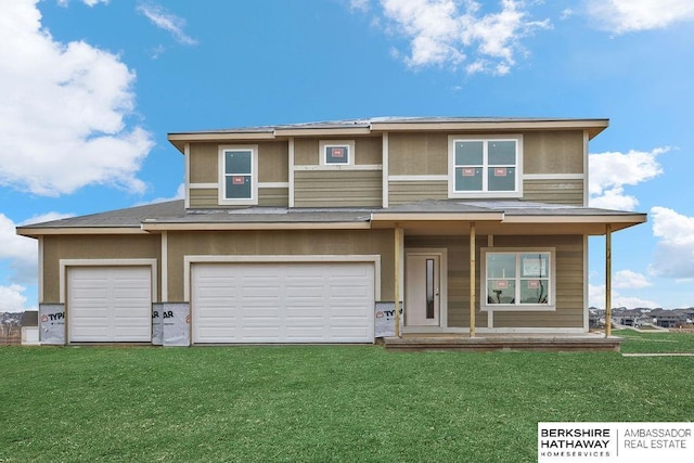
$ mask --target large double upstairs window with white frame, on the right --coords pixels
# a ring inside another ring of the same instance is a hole
[[[449,138],[450,197],[520,197],[522,136]]]

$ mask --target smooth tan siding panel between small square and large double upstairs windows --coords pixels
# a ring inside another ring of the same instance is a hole
[[[448,136],[390,133],[388,168],[391,176],[448,175]]]

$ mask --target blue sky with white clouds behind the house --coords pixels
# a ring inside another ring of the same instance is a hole
[[[694,306],[691,0],[0,3],[0,311],[38,305],[16,226],[180,197],[168,132],[375,116],[609,118],[591,205],[648,213],[613,304]]]

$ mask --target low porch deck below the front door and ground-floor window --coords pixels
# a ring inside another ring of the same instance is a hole
[[[536,351],[614,351],[618,352],[621,337],[597,334],[404,334],[384,337],[388,350],[536,350]]]

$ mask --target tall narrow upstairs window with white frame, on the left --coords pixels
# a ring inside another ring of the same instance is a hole
[[[258,202],[258,146],[219,147],[219,204],[252,205]]]

